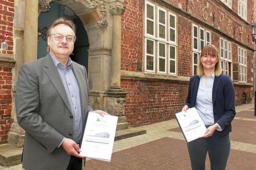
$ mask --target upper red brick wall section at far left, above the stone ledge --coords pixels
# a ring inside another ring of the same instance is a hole
[[[12,28],[14,18],[14,0],[0,0],[0,53],[13,54]],[[9,31],[9,40],[4,40],[4,31]],[[8,50],[2,50],[2,42],[8,44]]]

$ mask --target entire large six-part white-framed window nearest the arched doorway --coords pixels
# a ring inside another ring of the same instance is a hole
[[[176,14],[145,1],[144,16],[144,71],[152,74],[176,75]]]

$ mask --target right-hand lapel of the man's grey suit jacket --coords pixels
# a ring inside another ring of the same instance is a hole
[[[81,102],[81,109],[82,109],[82,115],[83,115],[83,112],[84,112],[84,102],[85,102],[85,94],[84,94],[85,89],[84,89],[84,87],[86,85],[84,84],[84,81],[81,78],[82,74],[80,73],[79,70],[76,69],[76,64],[74,64],[74,62],[73,62],[72,70],[73,70],[73,73],[74,73],[74,75],[76,77],[76,81],[77,81],[78,86],[79,86],[80,102]]]

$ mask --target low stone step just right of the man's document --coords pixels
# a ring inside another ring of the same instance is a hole
[[[140,127],[128,127],[128,129],[116,131],[115,141],[119,141],[121,139],[126,139],[138,135],[143,135],[145,133],[147,133],[147,131],[141,129]]]

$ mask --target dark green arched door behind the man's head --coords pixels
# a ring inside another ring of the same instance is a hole
[[[88,70],[88,51],[89,40],[88,35],[84,29],[84,24],[74,12],[67,6],[58,4],[58,2],[50,3],[50,10],[48,12],[41,12],[38,17],[38,32],[41,35],[38,37],[37,59],[45,57],[47,52],[46,31],[54,20],[59,17],[65,17],[72,20],[76,24],[77,40],[74,45],[74,51],[70,55],[72,61],[84,65]]]

